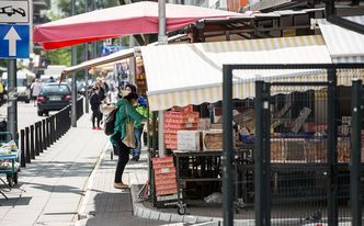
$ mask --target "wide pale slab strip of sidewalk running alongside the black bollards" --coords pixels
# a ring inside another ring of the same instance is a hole
[[[19,173],[11,191],[0,185],[1,226],[72,225],[84,184],[107,143],[102,131],[92,131],[86,114],[50,148]],[[3,178],[3,174],[0,174]]]

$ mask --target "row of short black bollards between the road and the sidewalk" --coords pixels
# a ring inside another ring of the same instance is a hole
[[[83,115],[83,98],[77,101],[77,120]],[[71,105],[20,129],[21,167],[50,147],[71,127]]]

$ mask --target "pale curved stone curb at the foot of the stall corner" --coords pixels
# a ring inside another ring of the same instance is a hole
[[[220,226],[223,218],[194,216],[194,215],[179,215],[173,213],[162,213],[159,211],[147,208],[138,199],[139,185],[130,185],[133,213],[135,216],[147,219],[157,219],[167,223],[185,223],[195,226]]]

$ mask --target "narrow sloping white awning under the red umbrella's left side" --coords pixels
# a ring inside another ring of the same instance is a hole
[[[68,67],[68,68],[64,69],[62,76],[71,74],[73,71],[81,70],[81,69],[89,69],[91,67],[95,67],[95,66],[100,66],[100,65],[116,63],[118,60],[126,59],[129,57],[134,57],[134,48],[122,49],[120,52],[116,52],[114,54],[111,54],[111,55],[107,55],[104,57],[90,59],[90,60],[83,61],[79,65]]]

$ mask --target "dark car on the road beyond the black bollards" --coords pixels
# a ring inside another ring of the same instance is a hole
[[[71,89],[67,83],[46,83],[37,98],[38,115],[48,115],[49,111],[58,111],[70,104]]]

